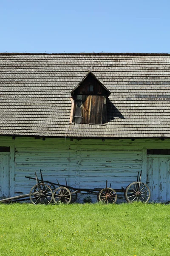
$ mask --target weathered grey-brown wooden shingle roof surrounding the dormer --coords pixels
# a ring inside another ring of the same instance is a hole
[[[108,122],[69,124],[89,70],[111,92]],[[170,55],[1,53],[0,135],[170,137]]]

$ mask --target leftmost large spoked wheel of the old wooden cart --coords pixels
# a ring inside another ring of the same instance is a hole
[[[47,184],[38,183],[31,188],[29,198],[32,204],[50,204],[53,201],[53,192]]]

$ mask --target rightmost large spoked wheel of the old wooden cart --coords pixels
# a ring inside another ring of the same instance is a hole
[[[133,182],[125,190],[125,199],[128,203],[135,201],[147,203],[150,199],[150,189],[142,182]]]

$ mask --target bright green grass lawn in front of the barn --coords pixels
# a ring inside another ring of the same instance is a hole
[[[170,205],[0,204],[0,255],[169,256]]]

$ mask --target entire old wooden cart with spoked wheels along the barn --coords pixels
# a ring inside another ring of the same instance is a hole
[[[121,189],[112,189],[111,184],[108,186],[108,181],[106,180],[105,188],[94,188],[94,189],[84,189],[84,188],[75,188],[67,185],[67,180],[65,180],[65,185],[50,182],[44,180],[42,177],[42,172],[40,170],[41,180],[38,179],[37,174],[35,173],[35,178],[28,177],[26,178],[36,180],[36,185],[34,185],[29,194],[18,195],[11,198],[6,198],[0,200],[0,203],[10,202],[10,201],[23,201],[28,200],[28,196],[32,204],[50,204],[54,202],[57,203],[74,203],[77,200],[77,194],[81,193],[82,195],[96,195],[98,201],[105,204],[114,204],[117,200],[117,193],[123,192],[125,199],[128,203],[134,201],[142,201],[147,203],[150,199],[150,189],[148,186],[141,182],[141,173],[137,176],[137,181],[131,183],[127,186],[126,189],[123,187]],[[56,188],[57,186],[57,188]]]

